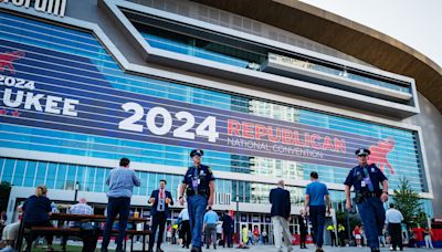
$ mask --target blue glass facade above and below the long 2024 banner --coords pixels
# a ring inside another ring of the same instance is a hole
[[[399,178],[407,177],[414,190],[419,192],[428,191],[415,132],[325,114],[293,105],[278,104],[262,98],[204,90],[167,80],[125,73],[93,34],[3,12],[0,12],[0,40],[17,44],[17,46],[8,45],[8,43],[0,44],[0,53],[20,50],[19,44],[24,44],[77,56],[75,57],[76,60],[70,61],[83,65],[84,69],[62,65],[61,63],[56,64],[57,61],[64,59],[41,55],[41,63],[44,69],[41,73],[43,77],[41,83],[51,85],[53,80],[49,73],[52,72],[66,76],[63,80],[66,90],[59,91],[60,94],[72,92],[70,84],[74,82],[90,82],[92,80],[97,83],[96,85],[101,85],[102,82],[109,83],[112,88],[117,91],[165,98],[172,102],[197,104],[208,108],[221,109],[225,114],[236,112],[242,113],[244,116],[254,115],[263,119],[275,119],[281,124],[288,122],[296,123],[303,127],[312,126],[319,132],[335,130],[343,135],[351,133],[361,137],[380,139],[379,145],[383,141],[393,143],[393,149],[390,149],[391,151],[386,156],[388,161],[385,164],[390,188],[396,188]],[[51,57],[51,61],[45,63],[45,59],[49,57]],[[215,56],[212,60],[218,61],[219,59]],[[223,61],[220,60],[220,62]],[[19,61],[14,65],[17,67],[15,72],[25,74],[30,78],[36,76],[32,71],[21,70],[20,66],[23,65]],[[98,70],[103,78],[97,78],[87,72],[88,69]],[[1,93],[1,96],[3,96],[3,88]],[[3,104],[0,104],[0,109],[4,109]],[[20,109],[17,111],[21,112]],[[2,115],[0,115],[1,118]],[[35,119],[35,122],[38,120]],[[41,124],[46,123],[40,122]],[[165,139],[164,144],[158,144],[148,140],[123,139],[114,137],[112,134],[103,136],[93,133],[82,134],[64,129],[44,128],[39,123],[30,126],[4,123],[3,120],[0,124],[0,147],[3,148],[115,160],[125,156],[133,161],[159,164],[166,167],[187,167],[190,165],[188,154],[191,148],[187,147],[186,144],[180,146],[169,145],[167,139]],[[354,150],[349,151],[352,153]],[[7,157],[7,154],[1,154],[1,156]],[[315,170],[319,171],[323,181],[332,183],[343,183],[349,168],[351,168],[348,165],[326,166],[265,156],[251,156],[233,150],[229,153],[211,149],[204,149],[204,162],[210,164],[214,172],[230,171],[296,180],[308,180],[309,172]],[[389,169],[389,165],[394,169]],[[104,192],[106,190],[104,179],[108,170],[108,168],[103,167],[72,164],[1,159],[1,179],[24,187],[45,183],[53,189],[69,190],[78,181],[81,190]],[[147,195],[157,187],[161,176],[165,176],[170,181],[169,188],[177,188],[181,181],[180,176],[168,175],[167,170],[158,174],[141,171],[138,171],[138,174],[143,181],[148,182],[136,189],[136,195]],[[242,202],[267,202],[267,192],[271,187],[273,185],[253,181],[217,180],[217,188],[221,192],[232,193],[232,199],[235,199],[238,193],[242,198]],[[292,191],[293,201],[301,206],[304,189],[290,187],[290,190]],[[339,202],[344,198],[344,192],[336,191],[332,196],[334,201]]]

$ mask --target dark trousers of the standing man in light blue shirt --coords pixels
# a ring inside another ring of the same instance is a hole
[[[129,216],[130,208],[130,198],[127,197],[109,197],[107,202],[107,218],[106,218],[106,228],[103,232],[103,243],[102,250],[107,250],[110,240],[110,231],[112,225],[114,224],[114,220],[119,214],[118,219],[118,237],[115,240],[117,244],[117,250],[123,250],[123,239],[126,235],[126,227],[127,227],[127,218]]]

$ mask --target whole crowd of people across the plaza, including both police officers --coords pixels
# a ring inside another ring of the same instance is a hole
[[[401,212],[390,204],[387,211],[383,209],[383,202],[389,198],[388,179],[383,172],[373,164],[368,164],[370,150],[358,149],[356,156],[358,166],[354,167],[344,185],[346,195],[346,208],[348,211],[352,209],[352,202],[357,204],[361,227],[355,227],[352,237],[357,246],[367,244],[371,251],[379,251],[380,245],[386,244],[386,235],[391,240],[391,250],[403,250],[401,222],[403,217]],[[167,231],[167,239],[172,244],[180,244],[182,248],[190,249],[191,252],[202,251],[206,244],[209,249],[212,246],[232,248],[232,237],[234,223],[229,210],[220,218],[212,209],[214,195],[214,176],[209,166],[201,164],[203,151],[194,149],[190,153],[193,165],[189,167],[183,176],[182,183],[178,190],[178,200],[183,209],[175,223],[166,227],[167,220],[170,219],[170,207],[175,204],[172,193],[167,190],[167,181],[159,180],[158,189],[154,190],[148,198],[150,204],[150,235],[148,242],[148,251],[162,252],[161,244]],[[141,185],[140,179],[133,169],[129,169],[130,160],[122,158],[119,167],[110,170],[106,185],[107,207],[106,223],[104,227],[97,227],[92,222],[70,222],[69,227],[80,228],[83,240],[83,251],[94,251],[97,239],[103,234],[101,250],[107,252],[110,241],[110,233],[114,228],[114,221],[118,217],[118,234],[116,235],[116,251],[124,251],[123,240],[126,237],[126,228],[128,216],[130,212],[130,198],[134,187]],[[277,251],[282,251],[283,244],[287,246],[287,251],[293,250],[293,235],[290,230],[292,218],[292,203],[290,191],[285,188],[285,181],[280,180],[277,187],[270,191],[271,221],[273,224],[273,240]],[[350,188],[355,189],[355,199],[350,199]],[[186,193],[186,195],[185,195]],[[186,198],[185,198],[186,197]],[[330,213],[330,198],[327,186],[319,181],[319,175],[316,171],[311,172],[311,183],[307,185],[305,191],[305,208],[299,211],[297,222],[299,227],[301,249],[306,249],[307,227],[312,227],[311,233],[313,242],[316,245],[316,252],[323,252],[324,232],[327,230],[330,235],[332,245],[345,245],[345,227],[339,223],[336,230],[334,224],[325,227],[326,216]],[[22,217],[19,221],[11,223],[3,229],[2,240],[9,245],[10,250],[17,239],[20,221],[23,222],[25,229],[32,227],[54,227],[50,216],[57,212],[56,207],[51,203],[48,198],[48,188],[38,186],[35,193],[29,197],[19,208]],[[82,198],[78,203],[72,206],[69,210],[72,214],[94,214],[94,210],[87,204],[87,200]],[[7,216],[1,214],[1,221],[4,224]],[[56,225],[56,223],[55,223]],[[101,230],[103,228],[103,230]],[[335,233],[337,231],[338,242]],[[431,229],[423,231],[425,245],[432,248]],[[35,237],[27,237],[27,239],[35,240]],[[46,235],[48,251],[52,251],[52,235]],[[246,248],[250,244],[269,243],[269,234],[265,230],[260,233],[257,227],[250,229],[248,225],[241,227],[240,246]],[[66,244],[66,239],[62,239],[62,245]],[[156,250],[154,250],[156,243]],[[414,233],[410,231],[411,245],[415,243]]]

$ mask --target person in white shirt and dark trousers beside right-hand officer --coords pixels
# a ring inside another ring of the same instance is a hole
[[[394,208],[394,204],[390,203],[390,208],[386,211],[386,228],[391,235],[391,246],[392,250],[396,250],[399,246],[399,250],[403,250],[402,245],[402,225],[403,221],[402,213]]]

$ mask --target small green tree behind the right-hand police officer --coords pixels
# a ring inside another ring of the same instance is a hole
[[[410,225],[424,225],[427,216],[418,192],[411,189],[406,177],[399,179],[398,189],[394,189],[392,203],[402,213],[403,222]]]

